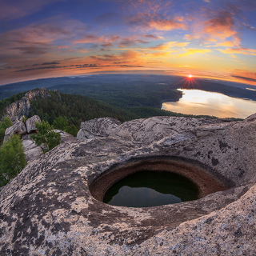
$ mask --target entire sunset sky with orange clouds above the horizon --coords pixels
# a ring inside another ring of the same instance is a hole
[[[0,85],[102,72],[256,86],[254,0],[0,0]]]

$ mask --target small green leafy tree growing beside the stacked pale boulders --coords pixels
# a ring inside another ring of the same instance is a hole
[[[34,140],[36,145],[43,146],[43,153],[52,150],[61,142],[61,134],[54,132],[49,122],[42,121],[41,123],[36,123],[35,127],[38,133],[32,134],[30,138]]]

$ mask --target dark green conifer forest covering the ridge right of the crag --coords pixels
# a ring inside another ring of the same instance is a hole
[[[159,110],[150,106],[120,108],[76,94],[62,94],[50,91],[50,95],[51,97],[49,98],[38,97],[35,100],[30,101],[31,110],[28,118],[37,114],[42,120],[49,122],[50,125],[54,125],[54,128],[66,130],[70,134],[75,134],[75,132],[80,129],[81,122],[94,118],[110,117],[116,118],[120,122],[126,122],[137,118],[150,118],[154,116],[214,118],[210,116],[180,114],[166,110]],[[76,127],[76,130],[74,129],[74,126]]]

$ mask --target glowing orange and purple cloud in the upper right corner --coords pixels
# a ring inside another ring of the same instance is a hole
[[[210,46],[238,47],[242,42],[242,30],[254,30],[250,22],[246,22],[246,9],[240,0],[223,2],[222,6],[202,6],[190,18],[188,27],[191,33],[185,35],[186,40],[197,40]],[[191,17],[191,14],[190,14]]]

